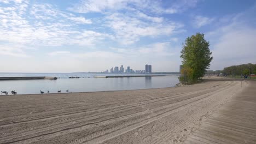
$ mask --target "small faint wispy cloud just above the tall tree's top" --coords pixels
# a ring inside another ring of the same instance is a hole
[[[193,20],[193,26],[195,28],[200,28],[205,25],[211,24],[215,18],[203,17],[201,15],[195,16]]]

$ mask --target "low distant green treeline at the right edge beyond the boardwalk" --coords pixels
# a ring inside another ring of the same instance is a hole
[[[256,64],[232,65],[222,70],[223,75],[249,75],[256,74]]]

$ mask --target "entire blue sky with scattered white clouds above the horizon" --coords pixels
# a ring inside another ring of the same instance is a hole
[[[197,32],[210,69],[256,63],[256,1],[0,0],[0,72],[179,71]]]

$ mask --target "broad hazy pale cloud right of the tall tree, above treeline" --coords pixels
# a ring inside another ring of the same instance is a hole
[[[223,69],[236,64],[256,63],[256,29],[232,28],[222,34],[218,43],[212,46],[212,69]]]

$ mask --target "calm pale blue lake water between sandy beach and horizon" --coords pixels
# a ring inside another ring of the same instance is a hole
[[[147,89],[173,87],[179,83],[177,75],[157,76],[157,77],[123,77],[123,78],[94,78],[93,76],[106,74],[90,73],[69,73],[69,74],[39,74],[39,73],[0,73],[2,76],[56,76],[57,80],[9,80],[0,81],[0,91],[15,90],[18,94],[35,94],[40,90],[45,93],[49,89],[50,93],[61,92],[97,92],[97,91],[117,91],[129,89]],[[107,74],[109,75],[109,74]],[[114,75],[114,74],[113,74]],[[132,74],[130,74],[132,75]],[[138,74],[136,74],[138,75]],[[70,76],[79,76],[80,79],[67,79]]]

